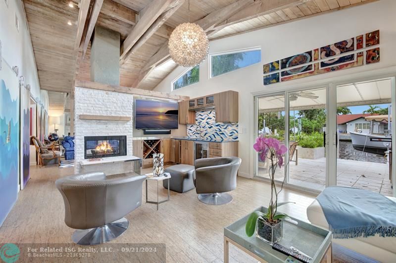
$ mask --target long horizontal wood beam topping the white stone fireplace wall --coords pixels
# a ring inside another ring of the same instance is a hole
[[[84,81],[84,80],[76,80],[76,87],[100,89],[100,90],[115,91],[115,92],[121,92],[121,93],[136,94],[136,95],[141,95],[141,96],[150,96],[150,97],[156,97],[156,98],[165,98],[165,99],[174,99],[174,100],[183,100],[183,101],[190,99],[190,97],[188,97],[188,96],[172,95],[169,93],[163,93],[163,92],[159,92],[159,91],[137,89],[137,88],[131,88],[131,87],[114,86],[114,85],[103,84],[103,83],[92,82],[92,81]]]

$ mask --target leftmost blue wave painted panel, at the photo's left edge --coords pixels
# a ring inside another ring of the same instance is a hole
[[[4,63],[0,78],[0,225],[17,198],[19,149],[19,83]]]

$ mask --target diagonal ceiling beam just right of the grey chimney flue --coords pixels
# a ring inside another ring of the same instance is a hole
[[[157,32],[158,29],[161,28],[162,25],[164,25],[166,20],[168,20],[168,18],[171,17],[173,15],[173,13],[176,12],[176,10],[179,9],[180,6],[182,6],[183,3],[184,3],[184,0],[173,0],[173,2],[171,4],[172,7],[169,8],[168,10],[166,10],[165,12],[163,12],[154,21],[154,23],[152,23],[152,25],[148,28],[148,30],[136,41],[136,43],[131,47],[131,49],[129,51],[123,52],[123,54],[125,54],[125,56],[123,57],[121,55],[120,63],[124,64],[124,62],[128,60],[129,56],[134,54],[136,52],[136,50],[139,49],[139,47],[141,47],[155,32]],[[133,31],[134,30],[132,30],[132,32]]]

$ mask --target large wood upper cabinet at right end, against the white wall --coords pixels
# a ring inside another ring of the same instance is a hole
[[[228,90],[214,94],[216,122],[238,122],[238,92]]]

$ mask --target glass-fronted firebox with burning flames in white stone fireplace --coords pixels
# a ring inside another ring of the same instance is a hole
[[[85,136],[84,158],[103,158],[127,155],[126,136]]]

